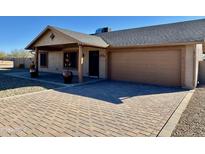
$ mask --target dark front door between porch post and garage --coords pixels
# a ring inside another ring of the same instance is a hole
[[[89,76],[99,77],[99,51],[89,51]]]

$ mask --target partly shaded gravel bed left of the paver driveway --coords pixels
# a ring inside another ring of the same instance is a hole
[[[0,98],[58,88],[55,84],[48,84],[29,79],[22,79],[0,73]]]

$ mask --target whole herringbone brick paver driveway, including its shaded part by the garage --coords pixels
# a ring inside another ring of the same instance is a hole
[[[186,95],[104,81],[0,99],[0,136],[157,136]]]

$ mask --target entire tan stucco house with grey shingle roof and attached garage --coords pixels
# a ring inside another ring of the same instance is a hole
[[[47,26],[26,49],[39,71],[195,88],[205,19],[93,35]]]

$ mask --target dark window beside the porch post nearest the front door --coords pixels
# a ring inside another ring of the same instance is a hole
[[[64,53],[64,68],[77,68],[78,67],[78,52],[65,52]]]

